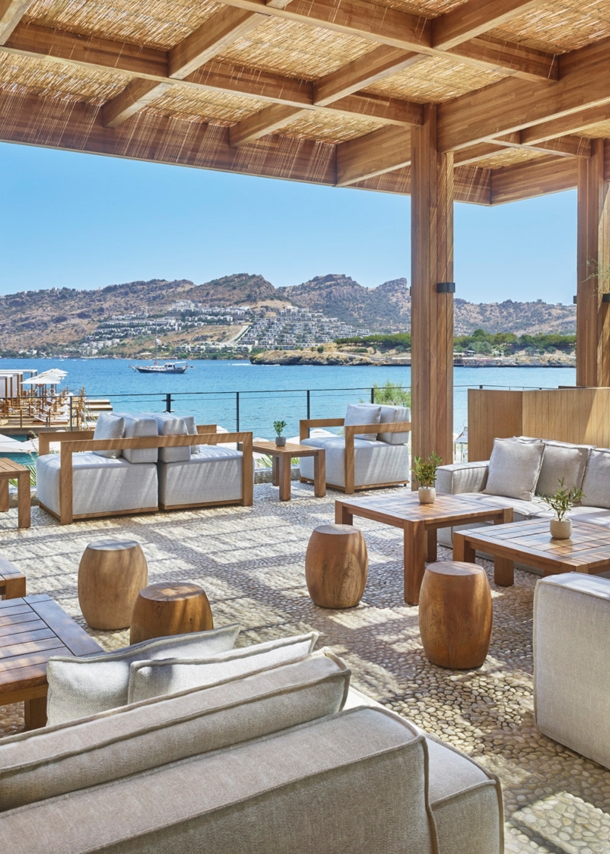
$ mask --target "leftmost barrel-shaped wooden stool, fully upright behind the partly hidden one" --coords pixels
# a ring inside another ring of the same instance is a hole
[[[148,584],[148,565],[135,540],[89,543],[78,567],[78,601],[92,629],[125,629],[138,593]]]

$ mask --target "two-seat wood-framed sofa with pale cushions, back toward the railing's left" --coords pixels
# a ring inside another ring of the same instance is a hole
[[[112,413],[100,415],[95,431],[43,433],[39,441],[39,504],[62,524],[252,504],[251,433],[218,433],[216,425],[195,425],[192,416]],[[50,442],[60,442],[60,454],[49,453]],[[237,442],[241,451],[219,447]]]

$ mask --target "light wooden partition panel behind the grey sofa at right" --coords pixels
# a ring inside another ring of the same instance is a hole
[[[507,436],[610,448],[610,388],[469,389],[468,459],[488,460]]]

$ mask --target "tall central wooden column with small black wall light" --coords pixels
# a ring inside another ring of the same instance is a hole
[[[453,462],[453,153],[436,143],[436,107],[412,129],[411,387],[413,454]]]

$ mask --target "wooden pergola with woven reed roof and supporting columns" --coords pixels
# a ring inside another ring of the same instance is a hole
[[[412,196],[416,453],[452,457],[453,202],[578,188],[610,386],[610,0],[0,0],[0,140]]]

